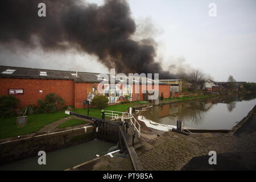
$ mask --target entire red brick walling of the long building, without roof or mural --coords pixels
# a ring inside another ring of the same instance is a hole
[[[8,95],[9,89],[23,89],[23,95],[14,95],[20,101],[19,107],[24,105],[37,105],[39,99],[49,93],[56,93],[65,100],[65,105],[73,105],[76,109],[84,107],[82,101],[87,99],[91,83],[77,83],[73,80],[48,80],[27,78],[0,78],[0,96]],[[39,93],[43,90],[43,93]],[[159,85],[159,96],[164,92],[164,98],[170,97],[170,86]],[[134,97],[133,97],[134,100]],[[143,100],[142,86],[139,89],[139,100]]]

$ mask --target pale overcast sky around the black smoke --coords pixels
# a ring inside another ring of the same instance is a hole
[[[89,0],[101,5],[103,0]],[[137,23],[134,39],[152,37],[158,43],[157,61],[164,69],[200,68],[216,81],[233,75],[237,81],[256,82],[255,0],[129,0]],[[209,16],[209,4],[217,16]],[[2,65],[108,72],[97,57],[68,51],[45,53],[35,48],[10,51],[0,46]],[[175,69],[173,70],[176,71]]]

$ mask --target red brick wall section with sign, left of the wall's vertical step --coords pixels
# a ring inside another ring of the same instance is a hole
[[[39,99],[49,93],[56,93],[65,100],[65,105],[74,105],[74,82],[72,80],[47,80],[27,78],[0,78],[0,96],[8,95],[9,89],[23,89],[23,95],[14,95],[19,99],[19,107],[37,105]],[[39,93],[43,90],[43,93]]]

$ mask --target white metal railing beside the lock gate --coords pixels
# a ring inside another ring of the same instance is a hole
[[[134,131],[138,133],[139,138],[141,137],[141,125],[139,125],[138,121],[134,118],[133,114],[113,111],[113,110],[101,110],[101,112],[105,113],[106,117],[110,117],[111,119],[129,119],[131,122],[131,126],[133,126]]]

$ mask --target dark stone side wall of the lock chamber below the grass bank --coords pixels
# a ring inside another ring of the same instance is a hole
[[[59,131],[35,137],[0,143],[0,165],[38,155],[39,151],[53,151],[87,142],[96,137],[94,126]]]

